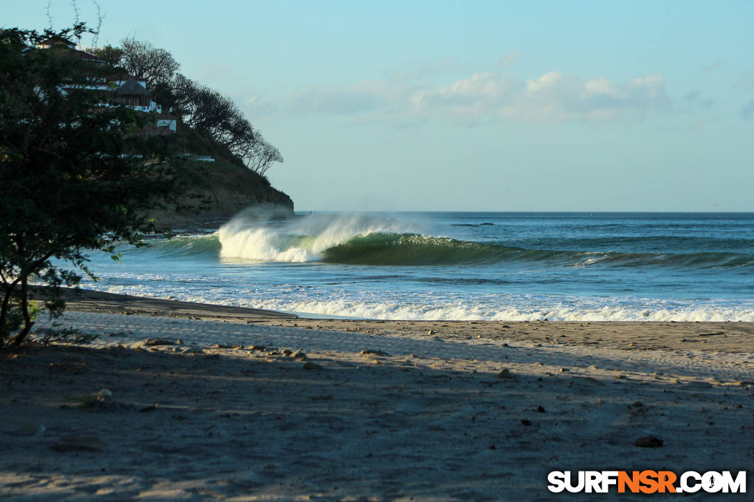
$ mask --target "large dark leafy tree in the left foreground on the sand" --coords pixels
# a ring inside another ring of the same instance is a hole
[[[0,31],[0,346],[32,327],[29,282],[57,292],[89,274],[86,253],[141,244],[149,210],[185,196],[154,117],[107,101],[102,78],[69,51],[36,49],[61,32]],[[63,303],[47,302],[51,314]],[[12,320],[19,320],[14,323]]]

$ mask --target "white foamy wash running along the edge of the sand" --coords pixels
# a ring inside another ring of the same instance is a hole
[[[403,298],[384,292],[355,295],[343,291],[340,295],[312,298],[296,292],[286,293],[281,289],[256,287],[237,291],[236,298],[229,298],[225,287],[218,287],[219,284],[214,284],[215,287],[203,284],[198,288],[196,284],[171,282],[169,277],[155,276],[150,279],[163,286],[155,289],[154,283],[132,283],[102,287],[101,283],[87,283],[85,287],[184,302],[263,308],[302,317],[314,314],[315,317],[385,320],[754,322],[754,302],[746,301],[735,305],[726,302],[652,301],[648,298],[603,298],[596,301],[578,296],[547,295],[484,295],[472,300],[432,294]]]

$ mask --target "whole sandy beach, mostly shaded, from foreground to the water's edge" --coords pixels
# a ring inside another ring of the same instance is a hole
[[[547,473],[754,460],[754,323],[311,320],[87,292],[35,332],[63,328],[97,339],[0,353],[0,497],[638,500],[553,494]]]

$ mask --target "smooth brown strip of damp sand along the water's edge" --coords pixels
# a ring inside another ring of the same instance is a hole
[[[92,289],[76,292],[64,288],[63,298],[67,311],[226,320],[372,335],[440,336],[459,340],[481,336],[625,350],[693,349],[754,353],[754,323],[741,321],[353,320],[299,317],[256,308],[180,302]],[[431,335],[430,331],[433,332]]]

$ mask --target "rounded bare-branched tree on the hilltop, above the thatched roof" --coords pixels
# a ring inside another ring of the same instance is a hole
[[[145,80],[147,88],[170,82],[180,67],[173,54],[153,46],[148,41],[124,38],[121,44],[122,52],[118,66],[129,75]]]

